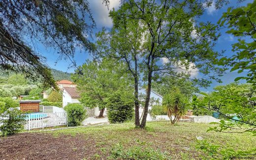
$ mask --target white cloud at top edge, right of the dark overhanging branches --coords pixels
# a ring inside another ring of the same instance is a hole
[[[97,28],[112,27],[112,20],[108,17],[108,13],[113,8],[117,9],[120,5],[120,0],[109,0],[109,10],[105,3],[102,3],[102,0],[88,0],[90,4],[91,12],[93,13],[93,17],[95,19]]]

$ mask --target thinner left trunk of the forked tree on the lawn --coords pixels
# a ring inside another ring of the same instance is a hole
[[[135,127],[140,127],[140,122],[139,122],[139,87],[138,87],[138,78],[137,76],[134,77],[134,104],[135,104]]]

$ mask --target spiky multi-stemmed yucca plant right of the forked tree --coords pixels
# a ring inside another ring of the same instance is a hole
[[[172,93],[163,97],[163,107],[167,111],[167,115],[174,124],[179,121],[181,116],[185,115],[189,109],[189,100],[179,89],[173,90]],[[174,118],[172,118],[174,116]]]

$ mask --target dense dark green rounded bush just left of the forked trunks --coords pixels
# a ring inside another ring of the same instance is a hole
[[[116,91],[107,98],[108,120],[110,123],[122,123],[132,118],[134,101],[132,92]]]

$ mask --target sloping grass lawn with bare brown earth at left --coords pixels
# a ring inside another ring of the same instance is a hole
[[[145,149],[147,154],[164,154],[172,160],[201,160],[209,155],[195,148],[196,137],[235,150],[256,147],[256,137],[249,133],[208,132],[209,124],[148,122],[147,129],[134,124],[76,127],[56,131],[32,131],[0,139],[0,160],[59,159],[105,160],[116,154],[130,154]],[[138,151],[139,150],[139,151]],[[160,158],[159,158],[160,159]],[[255,159],[251,156],[251,159]]]

